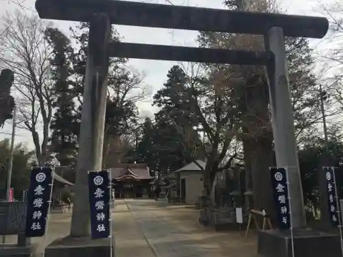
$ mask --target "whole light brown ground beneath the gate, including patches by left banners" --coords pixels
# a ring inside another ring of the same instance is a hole
[[[116,200],[113,234],[116,257],[256,257],[254,233],[215,232],[198,224],[198,210],[151,199]],[[51,215],[46,244],[67,236],[71,212]],[[7,242],[14,238],[8,237]],[[33,238],[35,257],[42,256],[45,238]]]

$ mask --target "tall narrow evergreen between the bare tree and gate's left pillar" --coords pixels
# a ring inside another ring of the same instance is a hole
[[[57,158],[63,166],[75,164],[78,147],[79,122],[75,113],[75,101],[71,81],[73,75],[72,58],[73,48],[71,41],[60,30],[48,28],[45,38],[53,49],[51,64],[51,79],[54,81],[55,108],[54,117],[50,124],[52,130],[50,143],[51,151],[57,154]]]

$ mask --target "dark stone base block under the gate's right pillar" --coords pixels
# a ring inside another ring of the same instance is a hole
[[[342,257],[340,234],[311,229],[259,231],[258,254],[265,257]]]

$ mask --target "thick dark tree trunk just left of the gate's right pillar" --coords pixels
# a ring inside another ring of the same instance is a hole
[[[272,166],[272,129],[269,117],[268,84],[263,77],[255,75],[245,88],[246,113],[244,129],[246,145],[244,155],[250,162],[253,201],[255,209],[264,209],[274,217],[270,167]],[[247,151],[246,151],[247,150]]]

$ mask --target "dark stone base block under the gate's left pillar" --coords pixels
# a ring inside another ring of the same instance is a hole
[[[112,251],[111,251],[112,246]],[[45,257],[115,257],[115,237],[111,238],[58,238],[45,248]]]

